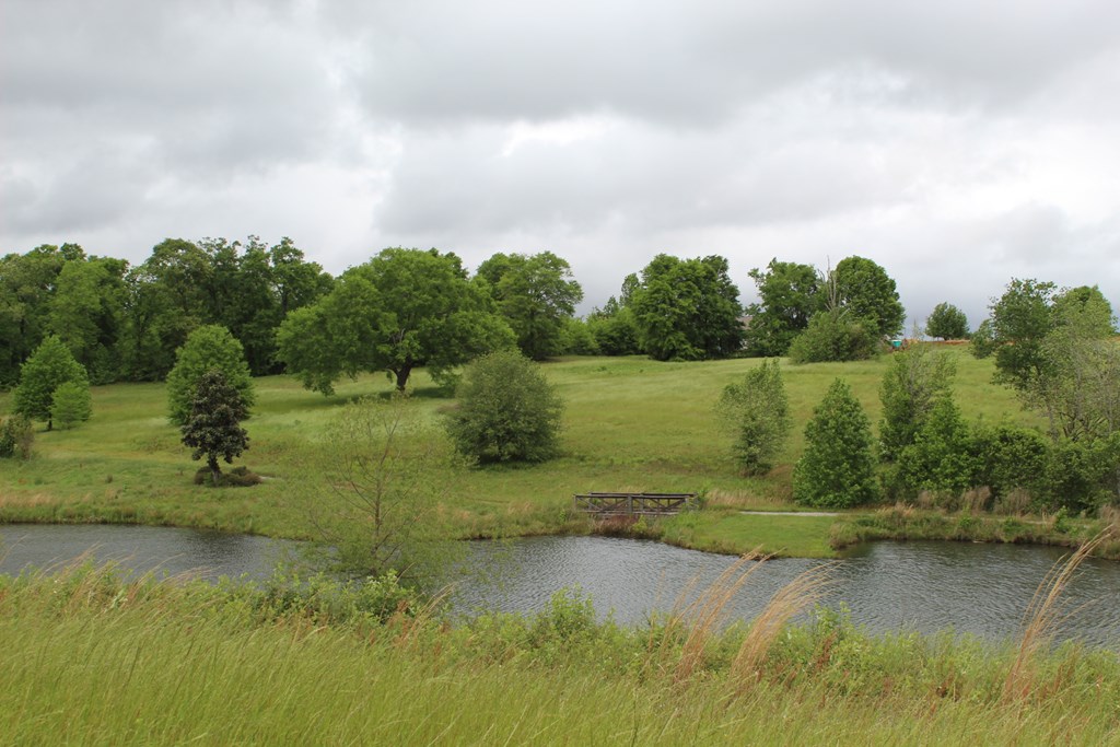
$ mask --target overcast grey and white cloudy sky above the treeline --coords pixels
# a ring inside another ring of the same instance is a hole
[[[1120,308],[1114,0],[4,0],[0,153],[0,254],[550,250],[582,310],[660,252],[745,302],[859,254],[912,318]]]

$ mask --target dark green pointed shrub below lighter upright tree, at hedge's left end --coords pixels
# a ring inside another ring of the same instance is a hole
[[[956,496],[976,485],[977,465],[968,423],[951,396],[942,395],[898,456],[897,479],[907,495],[933,491]]]

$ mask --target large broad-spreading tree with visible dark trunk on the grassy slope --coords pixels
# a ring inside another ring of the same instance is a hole
[[[386,249],[346,271],[318,302],[289,314],[277,343],[289,373],[329,394],[343,374],[362,371],[385,371],[404,391],[418,366],[438,379],[514,337],[485,283],[469,280],[458,256]]]

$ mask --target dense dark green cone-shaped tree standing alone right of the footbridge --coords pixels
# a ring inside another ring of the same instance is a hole
[[[822,508],[848,508],[879,496],[871,423],[837,379],[805,426],[805,452],[793,469],[793,497]]]

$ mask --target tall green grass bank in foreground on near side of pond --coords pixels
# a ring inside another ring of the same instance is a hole
[[[719,599],[738,579],[722,583],[712,604],[643,628],[598,624],[572,594],[536,616],[450,627],[337,588],[124,582],[88,567],[0,578],[0,734],[27,745],[1120,741],[1111,652],[870,637],[834,614],[786,625],[812,583],[720,633]]]

